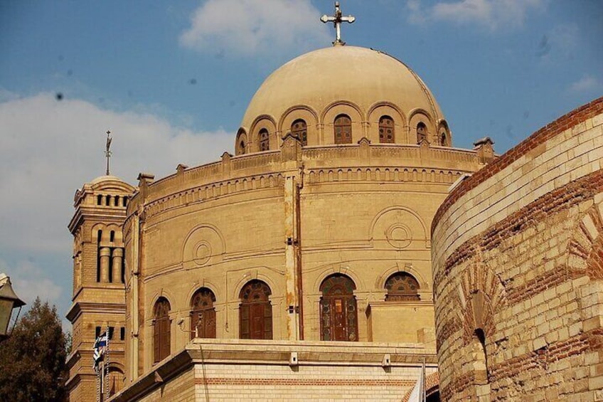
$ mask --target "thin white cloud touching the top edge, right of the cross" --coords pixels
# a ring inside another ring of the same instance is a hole
[[[419,0],[409,0],[411,23],[448,21],[458,25],[485,26],[492,31],[523,26],[531,11],[546,6],[547,0],[458,0],[439,1],[431,7],[422,8]]]

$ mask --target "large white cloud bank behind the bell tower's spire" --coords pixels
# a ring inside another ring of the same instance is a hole
[[[234,143],[221,130],[192,132],[144,112],[48,93],[0,103],[0,255],[70,253],[73,194],[105,174],[107,129],[114,133],[111,173],[132,184],[140,171],[160,178],[178,163],[218,160]]]

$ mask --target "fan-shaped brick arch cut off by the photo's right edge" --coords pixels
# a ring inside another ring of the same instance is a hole
[[[594,200],[572,232],[567,266],[575,276],[585,273],[590,280],[603,280],[603,193],[594,196]]]

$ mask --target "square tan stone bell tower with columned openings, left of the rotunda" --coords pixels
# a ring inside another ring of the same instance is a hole
[[[125,290],[122,227],[136,189],[115,176],[101,176],[75,192],[73,297],[67,318],[73,325],[68,356],[70,401],[96,401],[100,395],[92,368],[96,337],[108,328],[105,396],[119,391],[124,377]]]

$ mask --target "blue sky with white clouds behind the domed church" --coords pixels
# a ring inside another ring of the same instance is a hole
[[[341,0],[348,45],[405,61],[456,147],[513,147],[603,95],[603,3]],[[0,3],[0,271],[18,295],[70,305],[73,194],[104,173],[135,184],[233,152],[272,70],[331,46],[333,1]],[[58,96],[60,95],[60,96]],[[59,99],[60,98],[60,99]]]

